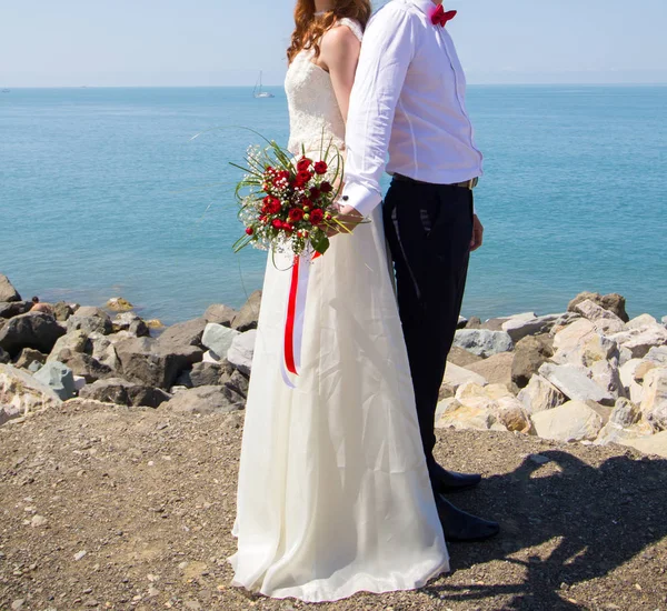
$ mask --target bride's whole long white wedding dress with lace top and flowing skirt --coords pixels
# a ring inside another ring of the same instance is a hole
[[[359,38],[358,23],[342,20]],[[290,143],[342,147],[329,74],[287,73]],[[426,469],[380,210],[310,269],[301,371],[282,380],[290,258],[269,256],[248,394],[233,584],[319,602],[419,588],[449,560]]]

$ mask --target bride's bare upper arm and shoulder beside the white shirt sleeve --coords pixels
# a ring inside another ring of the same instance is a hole
[[[345,26],[330,29],[325,33],[320,43],[318,64],[331,77],[340,113],[346,122],[360,51],[361,42]]]

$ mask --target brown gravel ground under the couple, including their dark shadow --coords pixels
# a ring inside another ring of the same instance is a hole
[[[242,412],[71,401],[0,429],[0,610],[295,610],[230,588]],[[452,572],[338,611],[667,610],[667,461],[620,447],[438,431],[479,471],[456,495],[502,533],[450,545]],[[539,457],[548,462],[539,463]]]

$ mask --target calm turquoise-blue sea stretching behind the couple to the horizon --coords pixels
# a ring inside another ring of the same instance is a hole
[[[0,272],[24,298],[122,296],[167,323],[240,306],[266,253],[231,251],[242,228],[229,162],[258,141],[240,128],[287,142],[272,92],[0,93]],[[470,87],[468,107],[486,241],[464,313],[564,311],[593,290],[667,314],[667,87]]]

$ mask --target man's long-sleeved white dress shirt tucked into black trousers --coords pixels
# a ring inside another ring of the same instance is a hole
[[[481,176],[466,77],[431,0],[391,0],[370,20],[347,120],[346,203],[367,216],[385,169],[452,184]],[[387,153],[389,162],[387,163]]]

